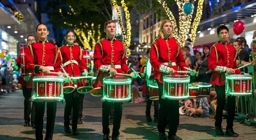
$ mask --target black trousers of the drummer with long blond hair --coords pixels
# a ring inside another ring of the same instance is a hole
[[[165,132],[167,120],[169,122],[168,135],[176,135],[177,124],[179,124],[179,100],[162,99],[163,84],[158,82],[159,89],[159,114],[158,114],[158,132]]]

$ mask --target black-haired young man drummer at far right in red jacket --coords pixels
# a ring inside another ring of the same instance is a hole
[[[236,48],[228,42],[229,29],[221,24],[217,28],[219,41],[215,43],[210,51],[208,66],[213,70],[210,84],[215,86],[217,93],[217,109],[215,118],[215,133],[217,135],[224,135],[222,130],[222,111],[225,105],[225,74],[244,74],[240,70],[234,70],[236,66]],[[226,119],[226,135],[231,137],[238,137],[239,134],[233,130],[233,121],[235,115],[236,97],[228,96],[228,117]]]

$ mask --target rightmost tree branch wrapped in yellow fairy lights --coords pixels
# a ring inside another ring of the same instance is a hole
[[[197,33],[197,27],[199,25],[199,22],[201,20],[202,14],[203,14],[203,5],[204,5],[204,0],[198,0],[197,4],[197,14],[196,17],[194,18],[193,24],[192,24],[192,29],[191,29],[191,46],[194,46],[194,41],[196,38],[196,33]]]

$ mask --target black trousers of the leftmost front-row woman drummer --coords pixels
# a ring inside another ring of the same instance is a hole
[[[44,126],[44,106],[45,102],[34,102],[36,108],[36,140],[43,140],[43,126]],[[46,135],[44,140],[52,140],[54,123],[56,117],[57,102],[47,103],[47,122],[46,122]]]

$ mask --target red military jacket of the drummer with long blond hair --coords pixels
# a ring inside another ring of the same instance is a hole
[[[154,79],[158,79],[163,83],[163,76],[168,75],[170,68],[174,70],[187,71],[184,67],[189,68],[182,56],[180,44],[174,38],[157,37],[150,48],[150,63],[154,68]],[[168,63],[167,65],[164,63]],[[172,63],[176,63],[173,65]],[[172,75],[180,75],[173,73]]]

